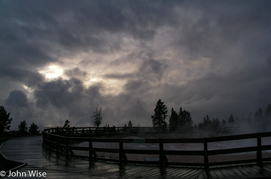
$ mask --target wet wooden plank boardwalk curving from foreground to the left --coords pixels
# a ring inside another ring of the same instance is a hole
[[[19,178],[271,178],[271,162],[213,166],[205,170],[203,167],[118,164],[66,158],[43,147],[42,136],[11,140],[0,151],[7,159],[27,163],[17,169],[19,173],[26,174],[26,177]],[[13,172],[17,173],[17,170]],[[46,172],[46,177],[30,177],[29,170]],[[8,175],[9,172],[3,178],[18,178]]]

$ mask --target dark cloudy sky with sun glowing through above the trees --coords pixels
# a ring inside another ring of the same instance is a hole
[[[271,103],[271,1],[0,1],[0,104],[12,129],[131,120],[157,100],[195,123]],[[168,122],[168,119],[167,119]]]

